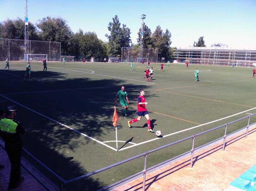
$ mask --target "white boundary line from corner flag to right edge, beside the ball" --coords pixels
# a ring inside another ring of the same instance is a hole
[[[232,116],[235,116],[235,115],[239,115],[239,114],[241,114],[241,113],[244,113],[244,112],[247,112],[247,111],[250,111],[250,110],[253,110],[253,109],[256,109],[256,107],[254,107],[254,108],[252,108],[252,109],[248,109],[248,110],[246,110],[246,111],[242,111],[242,112],[237,113],[237,114],[234,114],[234,115],[230,115],[230,116],[227,116],[227,117],[223,117],[223,118],[221,118],[221,119],[217,119],[217,120],[214,120],[214,121],[211,121],[211,122],[208,122],[208,123],[204,123],[204,124],[201,124],[201,125],[197,125],[197,126],[195,126],[195,127],[191,127],[191,128],[184,129],[184,130],[181,130],[181,131],[177,131],[177,132],[174,132],[174,133],[171,133],[171,134],[168,134],[168,135],[164,135],[164,136],[161,137],[161,138],[150,139],[150,140],[147,140],[147,141],[138,143],[138,144],[136,144],[136,145],[132,145],[132,146],[129,146],[129,147],[121,148],[121,149],[119,149],[119,151],[124,150],[124,149],[127,149],[127,148],[131,148],[131,147],[135,147],[135,146],[138,146],[138,145],[141,145],[141,144],[144,144],[144,143],[148,143],[148,142],[151,142],[151,141],[156,140],[156,139],[162,139],[162,138],[164,138],[164,137],[168,137],[168,136],[171,136],[171,135],[180,133],[180,132],[188,131],[188,130],[191,130],[191,129],[194,129],[194,128],[197,128],[197,127],[201,127],[201,126],[203,126],[203,125],[207,125],[207,124],[210,124],[210,123],[214,123],[214,122],[216,122],[216,121],[220,121],[220,120],[222,120],[222,119],[226,119],[226,118],[229,118],[229,117],[232,117]]]

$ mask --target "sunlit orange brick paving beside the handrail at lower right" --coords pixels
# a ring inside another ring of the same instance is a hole
[[[193,168],[190,156],[147,174],[146,190],[234,190],[229,183],[256,164],[256,127],[194,153]],[[142,190],[143,177],[115,191]]]

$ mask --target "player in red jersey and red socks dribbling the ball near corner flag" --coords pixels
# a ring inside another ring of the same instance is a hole
[[[147,118],[147,123],[148,123],[148,132],[154,133],[154,131],[150,127],[150,119],[149,119],[149,114],[148,110],[146,109],[145,105],[148,105],[148,102],[146,102],[144,98],[144,90],[140,90],[140,96],[138,97],[138,118],[133,119],[132,121],[128,121],[128,126],[131,127],[131,123],[135,123],[137,121],[140,121],[142,116],[145,116]]]

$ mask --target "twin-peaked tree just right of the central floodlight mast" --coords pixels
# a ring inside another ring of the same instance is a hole
[[[155,32],[152,34],[153,48],[158,49],[158,58],[170,58],[169,48],[171,45],[171,33],[168,29],[165,30],[165,33],[158,25]]]

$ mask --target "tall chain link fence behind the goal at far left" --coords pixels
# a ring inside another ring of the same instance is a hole
[[[0,38],[0,60],[24,60],[25,41]],[[29,41],[28,54],[47,54],[48,61],[60,61],[59,42]]]

